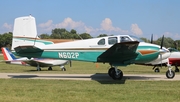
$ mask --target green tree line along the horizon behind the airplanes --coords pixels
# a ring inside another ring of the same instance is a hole
[[[97,37],[104,37],[108,36],[107,34],[100,34]],[[41,34],[39,35],[41,39],[89,39],[93,38],[90,34],[88,33],[82,33],[78,34],[76,30],[71,29],[70,31],[66,30],[65,28],[55,28],[51,31],[51,34]],[[147,38],[141,38],[145,42],[151,42]],[[162,41],[162,37],[158,38],[157,40],[152,41],[154,44],[160,45]],[[180,40],[173,40],[170,37],[164,37],[164,42],[163,46],[168,48],[176,48],[180,50],[178,47],[178,44],[180,43]],[[1,47],[8,47],[10,48],[12,44],[12,32],[0,34],[0,48]]]

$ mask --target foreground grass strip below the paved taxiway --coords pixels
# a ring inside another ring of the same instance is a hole
[[[180,81],[68,81],[0,79],[0,102],[180,101]]]

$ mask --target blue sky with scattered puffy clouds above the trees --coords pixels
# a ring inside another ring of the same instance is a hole
[[[14,19],[30,14],[37,33],[130,34],[180,40],[180,0],[0,0],[0,34],[13,32]]]

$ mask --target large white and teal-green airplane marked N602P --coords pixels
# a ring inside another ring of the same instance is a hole
[[[113,79],[123,78],[123,72],[117,66],[151,62],[157,60],[158,56],[163,53],[166,53],[166,56],[161,56],[162,60],[170,56],[169,50],[162,47],[162,45],[145,43],[132,35],[107,36],[47,44],[38,40],[37,35],[32,36],[29,33],[35,29],[34,17],[28,16],[15,19],[13,33],[14,49],[12,50],[15,50],[17,55],[28,58],[53,58],[109,63],[111,68],[108,74]],[[26,44],[23,44],[24,42]],[[167,78],[173,78],[175,72],[169,67],[166,76]]]

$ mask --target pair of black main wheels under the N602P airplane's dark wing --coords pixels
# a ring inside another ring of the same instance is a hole
[[[116,67],[111,67],[108,71],[108,74],[114,80],[121,80],[123,78],[123,72],[120,69],[117,69]]]

